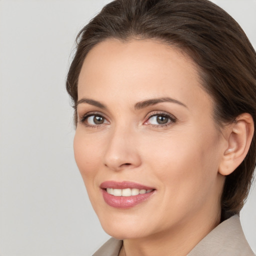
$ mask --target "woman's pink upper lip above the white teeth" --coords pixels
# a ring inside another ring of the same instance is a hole
[[[137,189],[154,189],[153,187],[145,186],[136,182],[132,181],[114,181],[114,180],[107,180],[100,184],[100,188],[117,188],[117,189],[124,189],[124,188],[137,188]]]

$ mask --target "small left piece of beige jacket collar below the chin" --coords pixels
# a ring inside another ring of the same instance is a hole
[[[118,256],[122,240],[110,238],[92,256]]]

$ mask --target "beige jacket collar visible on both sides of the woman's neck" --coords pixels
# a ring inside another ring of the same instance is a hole
[[[110,238],[92,256],[118,256],[122,240]],[[187,256],[255,256],[242,231],[238,215],[221,222]]]

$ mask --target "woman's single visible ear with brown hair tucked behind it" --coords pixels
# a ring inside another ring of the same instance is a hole
[[[253,119],[250,114],[242,113],[224,129],[228,146],[222,155],[218,172],[228,175],[239,166],[249,150],[254,132]]]

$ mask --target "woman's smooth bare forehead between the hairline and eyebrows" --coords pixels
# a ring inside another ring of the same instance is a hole
[[[152,39],[107,39],[88,52],[78,78],[78,99],[103,94],[129,101],[152,96],[183,97],[191,104],[205,97],[211,101],[196,64],[180,50]]]

